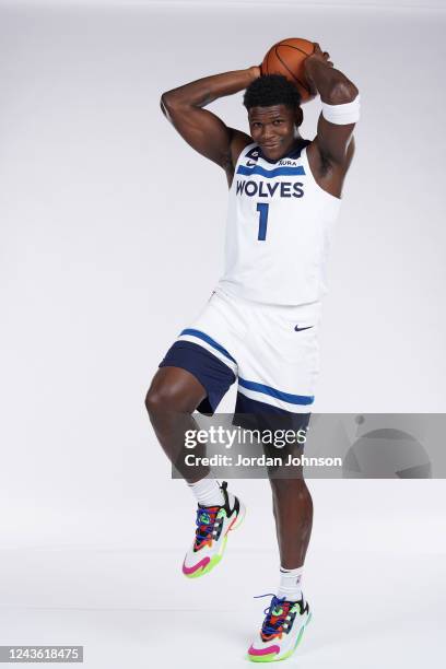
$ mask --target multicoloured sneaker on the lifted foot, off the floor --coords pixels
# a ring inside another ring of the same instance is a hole
[[[237,528],[246,513],[245,505],[227,492],[227,483],[220,486],[223,493],[223,506],[201,506],[197,509],[196,538],[186,553],[183,573],[189,578],[209,574],[223,558],[227,532]]]

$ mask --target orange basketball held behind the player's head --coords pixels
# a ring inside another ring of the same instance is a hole
[[[301,93],[302,102],[313,98],[305,78],[304,60],[313,54],[315,45],[308,39],[290,37],[274,44],[261,63],[262,74],[283,74]]]

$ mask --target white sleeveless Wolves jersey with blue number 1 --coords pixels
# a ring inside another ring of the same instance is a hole
[[[277,162],[246,146],[230,189],[225,272],[227,295],[263,304],[302,305],[326,293],[326,263],[341,200],[316,183],[306,145]]]

